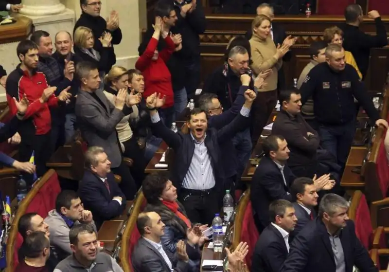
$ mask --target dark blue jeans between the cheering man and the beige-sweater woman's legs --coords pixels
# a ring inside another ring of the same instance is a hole
[[[236,156],[238,158],[236,176],[239,181],[242,177],[243,171],[245,171],[246,164],[251,156],[252,143],[250,129],[246,128],[245,130],[236,133],[235,137],[232,139],[232,142],[235,145]]]

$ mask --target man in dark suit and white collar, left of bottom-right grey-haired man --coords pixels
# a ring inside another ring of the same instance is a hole
[[[269,206],[271,223],[261,233],[252,256],[251,272],[280,272],[289,253],[289,233],[297,223],[295,208],[279,199]]]

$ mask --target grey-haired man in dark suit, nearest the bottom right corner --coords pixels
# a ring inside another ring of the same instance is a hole
[[[319,215],[293,240],[282,272],[378,272],[368,251],[355,235],[346,199],[327,194],[321,199]]]

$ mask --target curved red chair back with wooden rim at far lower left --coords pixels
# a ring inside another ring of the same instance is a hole
[[[18,250],[23,242],[22,236],[18,233],[19,219],[27,213],[37,213],[42,218],[46,218],[49,211],[55,208],[55,200],[60,191],[57,173],[50,169],[39,181],[36,181],[26,198],[20,202],[7,240],[6,272],[13,272],[18,266]]]

